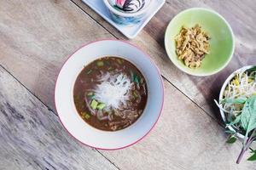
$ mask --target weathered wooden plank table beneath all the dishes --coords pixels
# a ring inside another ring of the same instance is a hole
[[[211,77],[192,77],[172,65],[164,33],[185,8],[212,8],[230,22],[236,52]],[[129,40],[160,68],[165,106],[153,131],[124,150],[95,150],[69,136],[56,116],[55,80],[68,54],[102,38],[125,39],[80,0],[0,1],[0,169],[256,169],[236,165],[241,144],[226,144],[212,100],[225,78],[256,64],[256,1],[167,0]]]

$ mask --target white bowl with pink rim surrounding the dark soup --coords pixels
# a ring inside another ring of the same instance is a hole
[[[73,102],[73,86],[84,65],[103,56],[129,60],[143,73],[148,85],[148,101],[142,116],[125,129],[107,132],[91,127],[79,116]],[[143,139],[154,127],[164,103],[164,88],[158,68],[148,55],[128,42],[90,42],[72,54],[62,66],[55,84],[55,107],[61,123],[81,143],[102,150],[116,150]]]

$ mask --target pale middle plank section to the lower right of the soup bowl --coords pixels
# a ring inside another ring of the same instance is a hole
[[[120,169],[255,169],[238,166],[241,144],[226,144],[224,129],[183,94],[165,82],[165,106],[159,122],[142,142],[125,150],[102,151]]]

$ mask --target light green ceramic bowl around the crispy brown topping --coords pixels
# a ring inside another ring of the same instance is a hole
[[[210,40],[210,54],[203,59],[201,67],[191,69],[177,59],[175,37],[182,26],[192,27],[199,24],[207,31]],[[180,70],[194,76],[209,76],[224,69],[229,64],[235,49],[233,31],[224,18],[207,8],[189,8],[177,14],[166,29],[166,52],[172,63]]]

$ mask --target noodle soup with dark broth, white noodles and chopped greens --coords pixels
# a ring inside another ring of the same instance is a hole
[[[148,99],[143,74],[118,57],[96,59],[79,73],[73,88],[79,115],[92,127],[116,131],[142,115]]]

